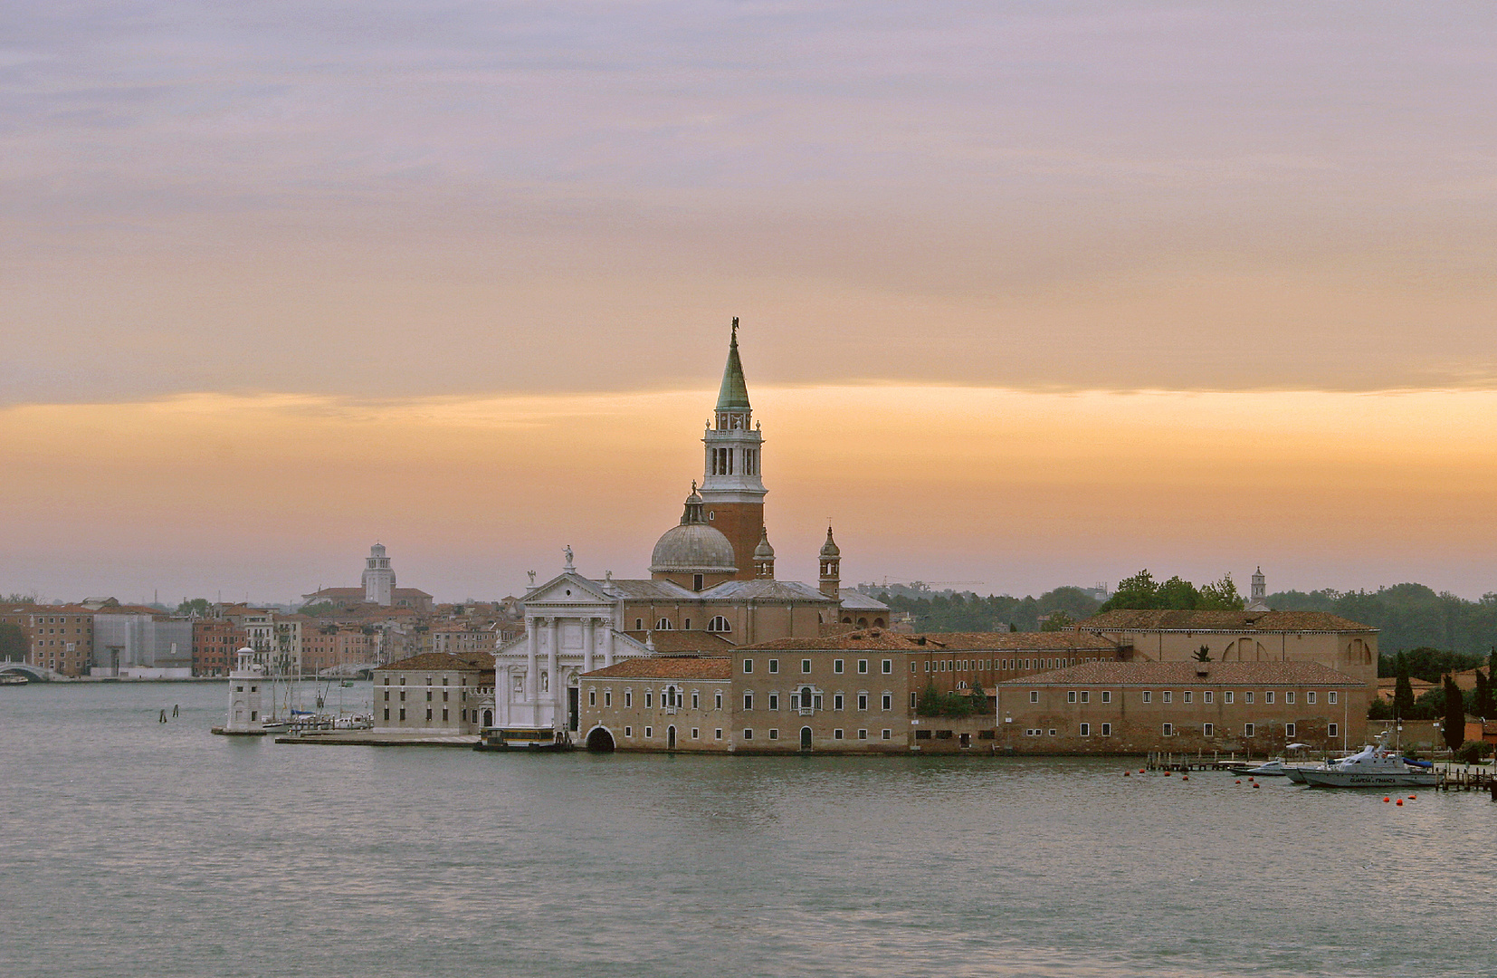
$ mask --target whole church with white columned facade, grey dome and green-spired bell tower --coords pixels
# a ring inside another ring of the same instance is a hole
[[[494,653],[497,726],[576,729],[578,677],[621,659],[726,652],[888,623],[886,605],[841,587],[831,527],[816,586],[774,577],[763,431],[748,401],[737,318],[702,446],[701,484],[692,484],[681,521],[656,542],[648,578],[587,578],[567,547],[558,577],[531,581],[521,602],[525,634]]]

